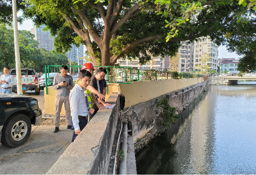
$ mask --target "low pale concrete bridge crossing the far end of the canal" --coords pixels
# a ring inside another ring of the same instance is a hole
[[[211,81],[211,85],[231,85],[231,84],[236,84],[237,81],[239,80],[256,80],[256,75],[247,75],[247,76],[242,76],[239,77],[237,75],[235,76],[215,76],[215,77],[209,77]]]

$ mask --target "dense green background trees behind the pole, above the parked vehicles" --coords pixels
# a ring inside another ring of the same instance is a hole
[[[18,33],[21,67],[44,72],[45,65],[68,64],[68,57],[64,54],[38,48],[39,43],[30,31],[19,30]],[[14,31],[0,25],[0,70],[4,66],[15,67]]]

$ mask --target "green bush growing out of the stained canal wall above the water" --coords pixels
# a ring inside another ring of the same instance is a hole
[[[155,110],[155,113],[161,116],[159,120],[162,125],[162,130],[165,131],[172,125],[176,118],[180,116],[176,114],[176,108],[169,104],[168,98],[163,98],[161,101],[156,99],[155,104],[157,104],[157,110]]]

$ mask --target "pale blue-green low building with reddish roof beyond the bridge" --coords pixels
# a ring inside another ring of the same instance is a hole
[[[229,71],[230,73],[239,73],[237,70],[238,63],[240,60],[238,58],[219,58],[218,65],[221,68],[221,72]]]

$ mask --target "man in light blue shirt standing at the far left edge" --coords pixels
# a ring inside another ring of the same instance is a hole
[[[0,85],[4,94],[11,94],[12,86],[14,85],[14,76],[9,74],[9,72],[9,67],[4,67],[4,74],[0,77]]]

